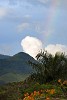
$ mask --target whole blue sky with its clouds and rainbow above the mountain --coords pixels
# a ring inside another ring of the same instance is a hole
[[[0,54],[67,54],[67,0],[0,0]]]

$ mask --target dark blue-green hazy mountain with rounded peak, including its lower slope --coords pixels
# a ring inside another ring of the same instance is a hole
[[[1,58],[2,56],[2,58]],[[29,66],[28,61],[35,61],[30,55],[20,52],[14,56],[0,56],[0,83],[20,81],[24,79],[24,75],[29,75],[33,72],[31,66]],[[7,59],[6,59],[7,58]],[[9,77],[9,78],[8,78]],[[22,77],[22,78],[21,78]]]

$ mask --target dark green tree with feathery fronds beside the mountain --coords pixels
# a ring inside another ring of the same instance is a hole
[[[40,52],[36,56],[37,62],[29,61],[29,64],[35,69],[36,80],[41,83],[67,78],[67,57],[63,53],[56,53],[55,56],[47,51]]]

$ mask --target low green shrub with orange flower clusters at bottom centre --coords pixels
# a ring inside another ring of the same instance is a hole
[[[25,89],[23,100],[51,100],[51,98],[61,97],[63,91],[58,85],[39,84]]]

